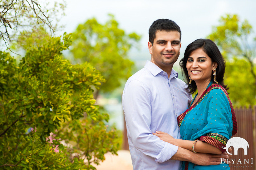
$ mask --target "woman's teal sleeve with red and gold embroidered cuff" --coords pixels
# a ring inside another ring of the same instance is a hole
[[[208,116],[207,123],[202,130],[196,134],[194,139],[212,144],[225,151],[227,141],[231,138],[233,121],[229,100],[221,89],[213,89],[207,95]]]

